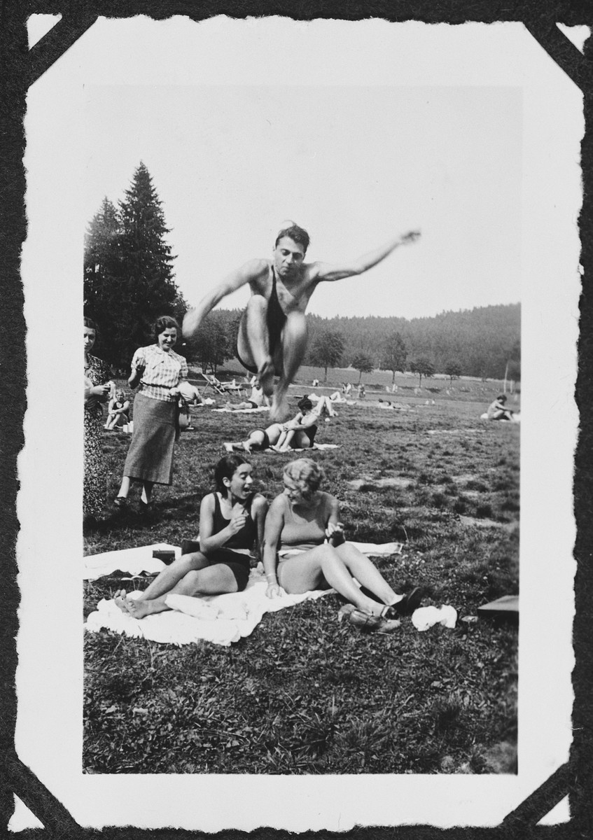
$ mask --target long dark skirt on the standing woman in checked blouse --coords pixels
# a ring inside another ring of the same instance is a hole
[[[152,400],[140,391],[134,397],[134,433],[123,475],[155,484],[173,483],[176,441],[175,402]]]

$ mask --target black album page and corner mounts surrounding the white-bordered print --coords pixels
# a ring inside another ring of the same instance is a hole
[[[30,50],[27,38],[27,18],[34,13],[60,14],[60,21]],[[2,726],[0,748],[3,766],[0,771],[0,827],[8,834],[8,821],[13,814],[14,795],[42,822],[43,829],[29,829],[12,836],[18,837],[212,837],[203,832],[175,829],[149,831],[141,828],[82,828],[50,790],[26,767],[14,749],[14,729],[17,711],[14,674],[17,665],[16,635],[19,602],[16,582],[15,545],[18,536],[16,495],[18,491],[17,457],[24,444],[23,420],[26,408],[26,355],[24,322],[24,293],[20,279],[20,253],[26,236],[24,207],[25,173],[25,97],[30,85],[39,79],[60,56],[78,40],[99,16],[131,18],[144,14],[165,19],[185,15],[203,20],[218,14],[233,18],[278,15],[311,20],[336,18],[360,20],[383,18],[394,23],[419,20],[428,24],[463,24],[464,22],[520,22],[525,25],[543,50],[584,94],[585,134],[581,144],[583,168],[583,204],[579,227],[581,241],[582,290],[580,297],[579,371],[576,402],[580,410],[580,432],[575,457],[575,517],[577,538],[575,559],[575,623],[573,642],[575,669],[573,686],[573,743],[569,762],[557,769],[548,780],[506,816],[500,826],[492,828],[458,827],[438,829],[429,826],[355,828],[350,832],[302,832],[295,835],[283,830],[262,827],[252,836],[270,838],[318,837],[336,838],[562,838],[593,837],[593,470],[590,453],[593,449],[593,418],[590,407],[593,391],[593,294],[588,279],[593,276],[593,45],[585,42],[583,53],[564,35],[557,23],[569,26],[593,25],[593,3],[470,3],[468,0],[416,0],[409,3],[337,3],[323,0],[317,3],[248,3],[229,0],[189,2],[189,0],[3,0],[0,3],[0,265],[2,265],[2,306],[0,306],[0,364],[2,364],[3,400],[0,401],[0,429],[3,432],[3,457],[0,459],[0,533],[3,550],[3,603],[0,611],[0,683]],[[545,177],[545,172],[542,173]],[[18,340],[15,342],[14,337]],[[554,605],[549,606],[550,618]],[[550,675],[553,682],[554,675]],[[542,737],[546,733],[542,732]],[[559,801],[569,795],[570,820],[556,826],[543,827],[537,823]],[[218,837],[248,837],[248,832],[219,832]]]

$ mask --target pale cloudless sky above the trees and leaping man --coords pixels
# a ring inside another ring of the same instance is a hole
[[[412,318],[520,299],[522,94],[516,87],[88,87],[85,213],[140,160],[195,305],[270,255],[285,219],[338,262],[420,228],[364,280],[320,286],[324,317]],[[242,306],[240,290],[223,305]]]

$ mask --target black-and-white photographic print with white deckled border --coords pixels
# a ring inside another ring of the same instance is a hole
[[[495,826],[567,760],[582,100],[375,19],[30,87],[16,747],[76,822]]]

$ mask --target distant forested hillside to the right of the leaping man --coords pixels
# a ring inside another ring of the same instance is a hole
[[[319,318],[307,315],[309,342],[306,364],[316,365],[314,348],[323,333],[338,332],[344,339],[342,362],[351,364],[365,354],[375,368],[386,368],[386,346],[399,333],[405,348],[405,367],[428,359],[437,373],[457,365],[460,375],[501,379],[505,372],[521,376],[521,304],[441,312],[433,318]],[[508,368],[507,368],[508,365]],[[397,370],[401,370],[400,367]]]

